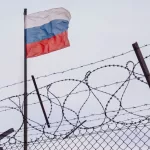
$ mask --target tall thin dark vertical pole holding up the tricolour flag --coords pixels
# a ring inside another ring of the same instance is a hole
[[[26,32],[25,19],[27,9],[24,9],[24,150],[28,149],[28,101],[27,101],[27,51],[26,51]]]

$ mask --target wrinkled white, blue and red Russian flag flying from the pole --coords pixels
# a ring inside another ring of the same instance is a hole
[[[25,17],[27,58],[47,54],[70,46],[68,26],[70,13],[54,8]]]

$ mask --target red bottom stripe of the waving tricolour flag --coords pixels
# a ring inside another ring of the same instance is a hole
[[[27,58],[44,55],[70,46],[68,32],[53,36],[39,42],[27,44]]]

